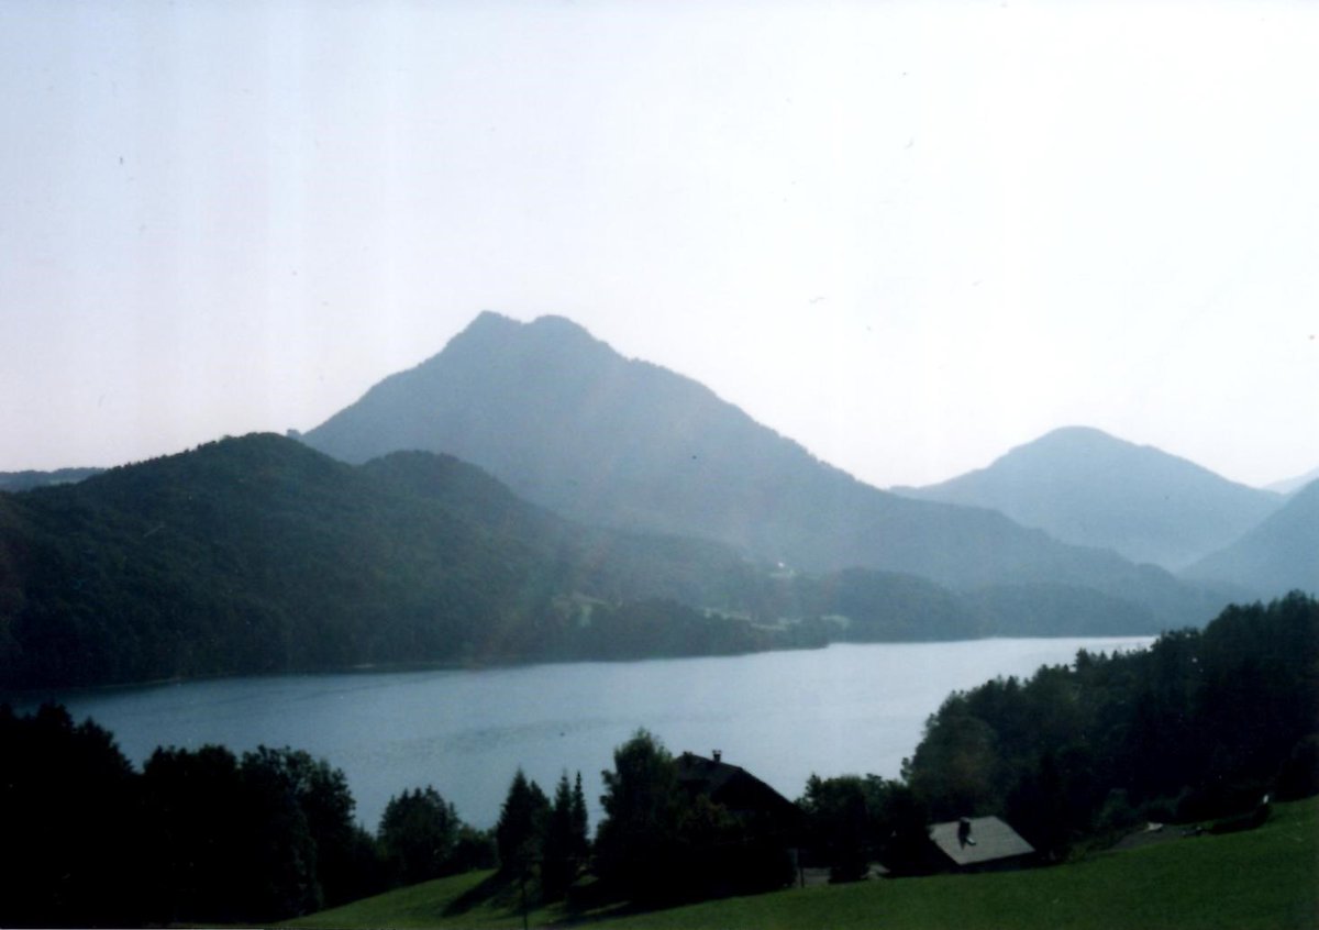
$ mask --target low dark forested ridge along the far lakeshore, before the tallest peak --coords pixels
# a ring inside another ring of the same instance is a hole
[[[249,435],[0,493],[0,690],[1175,625],[1062,582],[810,575],[590,528],[430,452],[348,466]]]

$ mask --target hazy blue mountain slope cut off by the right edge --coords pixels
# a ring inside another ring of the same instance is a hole
[[[1262,524],[1183,575],[1231,582],[1260,598],[1319,591],[1319,481],[1293,493]]]

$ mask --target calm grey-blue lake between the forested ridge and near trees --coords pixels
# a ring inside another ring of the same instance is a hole
[[[580,662],[230,678],[53,695],[94,718],[141,765],[157,745],[306,749],[342,768],[357,818],[434,785],[476,826],[493,826],[518,766],[546,793],[582,772],[599,818],[600,770],[645,727],[674,753],[741,765],[789,798],[807,777],[896,777],[926,718],[954,690],[1150,637],[832,645],[732,658]],[[30,710],[36,702],[21,704]]]

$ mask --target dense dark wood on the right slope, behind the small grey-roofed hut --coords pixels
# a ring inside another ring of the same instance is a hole
[[[951,695],[906,777],[934,819],[1005,817],[1060,856],[1138,819],[1199,821],[1319,786],[1319,602],[1227,608],[1204,631]]]

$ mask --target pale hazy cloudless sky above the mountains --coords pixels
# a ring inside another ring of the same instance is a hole
[[[567,315],[859,478],[1319,466],[1319,4],[0,3],[0,470]]]

